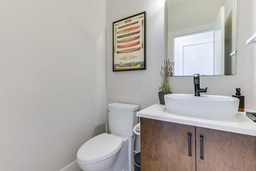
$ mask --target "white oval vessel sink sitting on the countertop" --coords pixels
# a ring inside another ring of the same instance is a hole
[[[228,96],[167,94],[164,101],[172,114],[214,119],[234,118],[239,107],[239,99]]]

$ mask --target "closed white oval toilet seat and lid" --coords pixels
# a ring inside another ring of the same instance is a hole
[[[100,134],[84,143],[77,152],[77,162],[94,164],[110,158],[122,147],[121,137],[111,134]]]

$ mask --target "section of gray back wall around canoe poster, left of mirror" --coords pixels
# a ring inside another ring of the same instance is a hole
[[[106,90],[107,102],[154,104],[158,98],[159,70],[166,57],[164,0],[106,1]],[[147,12],[147,70],[112,72],[112,23]],[[166,23],[165,23],[166,24]]]

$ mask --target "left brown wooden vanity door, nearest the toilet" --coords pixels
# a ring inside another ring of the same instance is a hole
[[[147,118],[141,118],[140,124],[142,171],[196,170],[195,126]]]

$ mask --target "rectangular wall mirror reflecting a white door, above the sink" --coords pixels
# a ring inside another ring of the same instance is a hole
[[[236,74],[238,0],[168,0],[174,76]]]

